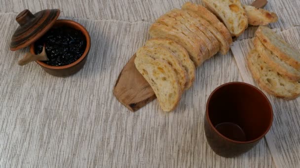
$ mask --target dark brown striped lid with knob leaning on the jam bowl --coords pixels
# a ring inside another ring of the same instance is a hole
[[[46,9],[32,14],[28,9],[16,17],[20,25],[11,37],[10,50],[16,51],[29,46],[44,35],[60,14],[59,9]]]

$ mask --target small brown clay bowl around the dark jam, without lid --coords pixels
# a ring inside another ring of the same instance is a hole
[[[75,28],[77,30],[80,30],[83,35],[86,38],[86,48],[82,56],[79,57],[75,62],[69,64],[69,65],[64,65],[64,66],[52,66],[44,63],[43,61],[36,61],[44,71],[46,71],[48,74],[54,75],[54,76],[69,76],[73,75],[76,72],[78,72],[85,64],[86,58],[88,55],[88,52],[91,47],[91,38],[88,33],[88,31],[79,23],[71,20],[57,20],[55,21],[53,27],[61,27],[61,26],[66,26],[70,28]],[[35,54],[35,44],[32,43],[30,45],[30,52],[32,54]]]

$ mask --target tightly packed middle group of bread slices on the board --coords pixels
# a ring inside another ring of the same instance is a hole
[[[232,43],[228,29],[205,7],[186,3],[158,18],[150,27],[154,38],[168,38],[183,46],[194,62],[201,65],[218,51],[226,54]]]

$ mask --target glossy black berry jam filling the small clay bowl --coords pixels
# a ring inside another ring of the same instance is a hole
[[[52,66],[63,66],[82,56],[86,48],[86,38],[81,31],[74,28],[51,28],[35,42],[35,53],[41,53],[44,45],[49,60],[43,62]]]

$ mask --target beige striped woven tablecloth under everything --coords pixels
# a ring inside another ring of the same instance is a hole
[[[149,39],[150,24],[187,0],[0,0],[0,168],[299,168],[300,98],[268,96],[274,122],[251,151],[222,158],[208,146],[205,104],[220,84],[255,84],[245,65],[255,27],[197,69],[179,107],[162,112],[155,101],[130,112],[112,95],[121,68]],[[200,3],[200,0],[192,0]],[[251,0],[241,0],[248,4]],[[28,48],[9,51],[23,9],[60,8],[90,32],[91,50],[77,74],[58,78],[36,63],[18,66]],[[300,0],[269,0],[271,24],[300,49]]]

